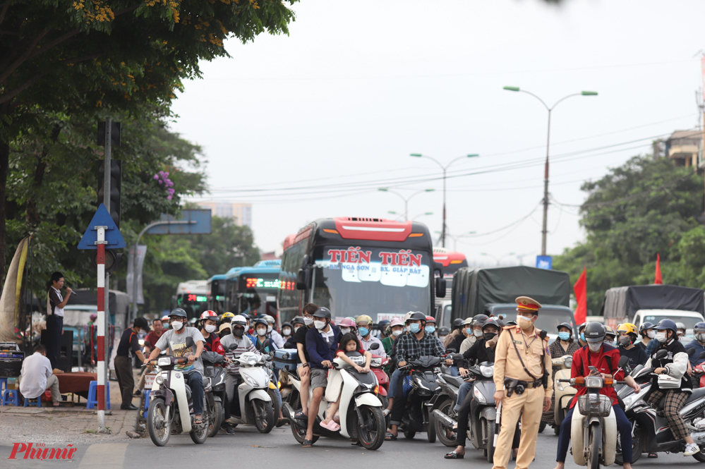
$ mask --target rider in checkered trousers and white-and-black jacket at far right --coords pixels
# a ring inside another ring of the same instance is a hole
[[[692,456],[700,451],[700,448],[693,441],[685,425],[685,421],[680,415],[680,409],[692,392],[692,383],[687,376],[688,370],[688,354],[685,351],[683,343],[678,341],[678,333],[675,322],[670,319],[661,319],[656,327],[656,340],[658,347],[653,355],[646,361],[645,367],[653,367],[653,378],[651,379],[651,389],[649,397],[646,398],[646,403],[651,406],[658,405],[661,398],[665,397],[663,403],[663,414],[670,431],[675,439],[685,439],[685,451],[683,456]],[[665,358],[656,358],[658,351],[665,350],[668,352]],[[680,386],[677,388],[661,389],[658,385],[658,375],[666,374],[675,379],[680,379]]]

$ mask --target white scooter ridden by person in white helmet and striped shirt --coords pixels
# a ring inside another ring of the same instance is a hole
[[[254,352],[242,353],[233,358],[240,364],[242,383],[237,386],[239,409],[230,403],[231,424],[254,423],[260,433],[269,433],[275,426],[275,413],[270,389],[272,370],[270,355],[258,355]],[[233,399],[234,401],[234,399]]]

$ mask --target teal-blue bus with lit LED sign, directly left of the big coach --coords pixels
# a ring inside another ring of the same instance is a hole
[[[257,262],[227,274],[225,308],[236,315],[246,313],[251,319],[270,315],[277,325],[280,260]]]

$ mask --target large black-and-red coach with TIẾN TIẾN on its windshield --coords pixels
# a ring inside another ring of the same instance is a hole
[[[327,307],[335,322],[430,315],[434,293],[445,295],[426,225],[377,218],[318,219],[287,237],[279,284],[282,321],[300,315],[306,303]]]

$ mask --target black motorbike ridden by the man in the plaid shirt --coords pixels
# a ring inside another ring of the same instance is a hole
[[[432,398],[440,394],[440,386],[436,383],[440,374],[441,358],[422,356],[399,367],[408,371],[409,375],[402,380],[404,394],[407,394],[406,408],[399,430],[404,438],[413,439],[416,432],[426,432],[429,443],[435,443],[435,422],[433,422]]]

